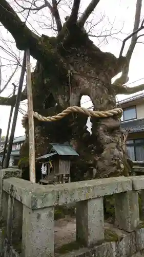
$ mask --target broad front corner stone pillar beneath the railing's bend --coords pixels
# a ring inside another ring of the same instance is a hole
[[[22,256],[54,256],[54,207],[32,210],[24,206]]]

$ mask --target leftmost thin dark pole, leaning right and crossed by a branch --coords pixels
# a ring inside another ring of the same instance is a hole
[[[13,96],[15,95],[15,89],[16,89],[16,85],[13,84]],[[8,144],[8,138],[9,138],[9,132],[10,132],[10,124],[11,124],[11,118],[12,118],[12,113],[13,113],[13,108],[14,106],[11,105],[11,108],[10,108],[10,116],[9,116],[9,122],[8,122],[8,128],[7,128],[7,135],[6,135],[6,140],[5,140],[5,147],[4,147],[4,154],[3,154],[3,159],[2,159],[2,169],[4,168],[4,161],[5,161],[5,155],[6,155],[6,152],[7,152],[7,144]]]

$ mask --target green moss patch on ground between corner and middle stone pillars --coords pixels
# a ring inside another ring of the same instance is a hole
[[[56,253],[64,254],[71,252],[72,250],[78,250],[81,247],[84,247],[83,243],[74,241],[59,247],[58,249],[56,249]]]

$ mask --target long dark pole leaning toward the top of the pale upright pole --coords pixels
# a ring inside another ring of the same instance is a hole
[[[16,126],[18,109],[19,109],[19,103],[20,103],[20,98],[22,95],[22,88],[23,88],[23,82],[24,82],[24,76],[25,76],[25,68],[26,68],[26,55],[24,53],[22,70],[20,73],[18,91],[17,91],[17,96],[16,96],[16,102],[15,102],[15,109],[14,109],[14,115],[13,115],[13,121],[12,121],[12,127],[11,127],[10,140],[9,140],[8,151],[7,151],[6,161],[5,161],[5,168],[9,167],[13,138],[14,138],[14,133],[15,133],[15,126]]]

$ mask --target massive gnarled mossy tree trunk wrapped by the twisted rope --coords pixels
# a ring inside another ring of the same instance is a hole
[[[70,106],[70,103],[80,106],[82,95],[91,98],[96,111],[107,111],[116,107],[111,79],[120,71],[125,58],[119,60],[111,53],[101,52],[89,40],[86,32],[76,25],[69,28],[68,32],[64,25],[57,38],[49,39],[43,35],[42,41],[48,51],[52,52],[53,60],[43,65],[42,62],[37,62],[32,74],[35,112],[52,116]],[[67,76],[68,70],[72,72],[71,85]],[[84,173],[93,169],[96,169],[98,178],[124,175],[120,119],[116,116],[92,118],[90,135],[86,130],[87,118],[85,115],[73,114],[55,122],[34,120],[36,157],[48,152],[50,142],[67,141],[79,153],[79,157],[72,161],[72,180],[83,179]],[[28,166],[28,145],[26,124],[26,141],[19,162],[23,167]]]

